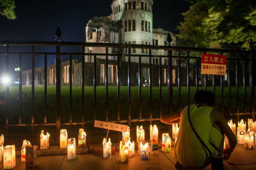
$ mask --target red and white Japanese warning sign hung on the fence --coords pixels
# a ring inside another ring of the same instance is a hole
[[[201,74],[225,75],[227,56],[202,54]]]

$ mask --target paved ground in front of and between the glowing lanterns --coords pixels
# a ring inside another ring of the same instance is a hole
[[[37,165],[34,169],[175,169],[174,164],[177,160],[174,156],[174,151],[163,153],[159,151],[157,155],[149,155],[148,161],[141,161],[137,150],[135,156],[129,158],[129,163],[119,162],[119,152],[116,151],[111,159],[103,159],[102,156],[94,156],[93,154],[77,155],[75,160],[67,160],[66,155],[56,156],[38,156]],[[238,145],[230,159],[224,162],[228,169],[256,169],[256,149],[245,149],[242,145]],[[0,163],[0,170],[3,169],[3,163]],[[25,163],[21,163],[21,158],[16,158],[15,169],[25,169]],[[205,169],[211,169],[210,166]]]

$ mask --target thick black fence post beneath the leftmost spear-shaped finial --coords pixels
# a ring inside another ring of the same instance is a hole
[[[61,46],[56,46],[56,142],[61,129]]]

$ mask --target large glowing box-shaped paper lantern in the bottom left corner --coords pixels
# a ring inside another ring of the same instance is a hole
[[[15,145],[6,145],[3,148],[3,169],[12,169],[15,165]]]

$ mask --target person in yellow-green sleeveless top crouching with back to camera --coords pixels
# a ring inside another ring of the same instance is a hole
[[[237,139],[224,116],[214,107],[213,92],[197,91],[193,97],[193,105],[189,107],[190,119],[195,131],[209,150],[214,153],[215,148],[218,148],[223,154],[222,159],[227,160],[237,144]],[[166,114],[161,118],[161,122],[179,123],[179,132],[174,147],[174,154],[178,160],[175,167],[177,169],[203,169],[211,163],[211,156],[192,130],[187,110],[188,106]],[[228,138],[228,145],[223,149],[224,134]]]

